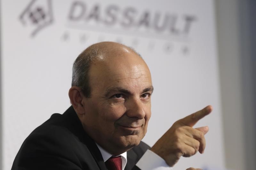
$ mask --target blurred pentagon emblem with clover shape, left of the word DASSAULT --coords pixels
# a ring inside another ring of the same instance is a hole
[[[51,0],[32,0],[19,17],[21,23],[31,29],[34,37],[44,27],[52,24]]]

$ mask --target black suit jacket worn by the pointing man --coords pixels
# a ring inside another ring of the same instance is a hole
[[[125,170],[135,164],[149,146],[143,142],[127,152]],[[12,170],[107,170],[100,150],[89,137],[71,106],[63,114],[53,114],[37,127],[21,145]]]

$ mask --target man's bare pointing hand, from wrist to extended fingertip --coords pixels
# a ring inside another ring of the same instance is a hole
[[[212,112],[207,106],[173,123],[172,127],[154,144],[151,151],[162,157],[169,166],[178,162],[181,156],[190,157],[197,151],[204,153],[208,126],[193,128],[204,116]]]

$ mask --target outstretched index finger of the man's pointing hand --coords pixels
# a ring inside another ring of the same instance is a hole
[[[191,115],[188,115],[184,117],[183,119],[180,119],[179,122],[185,124],[186,126],[193,127],[196,122],[198,122],[200,119],[202,119],[204,116],[209,115],[212,112],[212,106],[206,106],[202,110],[199,110]]]

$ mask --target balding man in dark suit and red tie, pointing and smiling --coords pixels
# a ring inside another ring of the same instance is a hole
[[[152,148],[141,142],[152,92],[148,66],[134,50],[93,44],[74,62],[72,106],[28,136],[12,169],[171,169],[181,156],[203,153],[208,127],[192,127],[211,106],[175,122]]]

